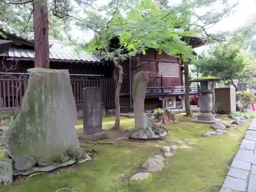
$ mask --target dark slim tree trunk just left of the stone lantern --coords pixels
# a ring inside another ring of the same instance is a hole
[[[188,62],[184,62],[184,80],[185,80],[185,110],[186,116],[193,116],[189,103],[189,69]]]

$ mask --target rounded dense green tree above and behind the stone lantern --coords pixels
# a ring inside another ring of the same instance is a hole
[[[203,75],[217,76],[224,81],[238,78],[247,65],[239,45],[219,44],[202,55],[194,63],[196,70]]]

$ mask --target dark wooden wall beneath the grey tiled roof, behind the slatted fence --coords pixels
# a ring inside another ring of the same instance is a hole
[[[1,59],[1,58],[0,58]],[[3,58],[2,58],[3,59]],[[33,68],[34,62],[31,60],[3,60],[1,71],[9,73],[27,73],[27,69]],[[84,87],[102,87],[102,102],[106,109],[113,109],[115,107],[115,82],[112,78],[113,67],[111,65],[102,65],[97,63],[76,63],[76,62],[50,62],[50,68],[52,69],[68,69],[71,76],[71,86],[76,103],[82,102],[81,90]],[[72,74],[86,74],[92,76],[77,76]],[[103,75],[103,77],[93,76]],[[5,98],[4,105],[6,108],[14,106],[14,100],[17,95],[16,89],[18,89],[18,101],[21,101],[27,87],[28,75],[7,74],[0,75],[0,90],[1,97]]]

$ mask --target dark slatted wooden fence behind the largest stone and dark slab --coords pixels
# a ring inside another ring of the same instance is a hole
[[[2,109],[8,110],[20,105],[26,92],[28,73],[8,73],[0,76],[0,98]],[[82,89],[87,87],[101,87],[102,102],[106,109],[113,109],[114,87],[111,79],[99,75],[70,75],[70,83],[76,104],[82,103]]]

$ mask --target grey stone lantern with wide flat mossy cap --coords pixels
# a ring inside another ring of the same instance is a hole
[[[191,120],[196,123],[208,123],[214,124],[220,122],[219,119],[215,118],[215,115],[211,113],[212,111],[212,92],[211,83],[214,81],[219,81],[217,77],[199,77],[189,80],[190,82],[200,82],[199,90],[199,109],[200,114],[196,119]]]

